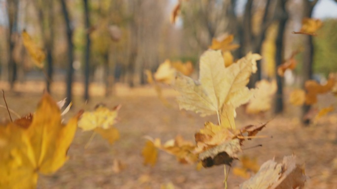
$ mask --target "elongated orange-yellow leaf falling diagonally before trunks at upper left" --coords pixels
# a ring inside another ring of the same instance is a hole
[[[32,59],[34,60],[35,66],[37,66],[38,68],[43,68],[43,60],[46,57],[45,53],[35,44],[35,42],[26,30],[23,30],[21,35],[23,39],[23,44]]]

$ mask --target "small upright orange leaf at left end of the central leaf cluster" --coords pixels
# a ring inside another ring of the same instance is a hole
[[[154,166],[158,159],[158,149],[155,146],[155,142],[147,140],[143,150],[141,151],[141,155],[144,158],[144,165],[150,164],[151,166]]]

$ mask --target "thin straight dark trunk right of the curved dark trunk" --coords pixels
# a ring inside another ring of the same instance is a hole
[[[84,20],[85,28],[90,28],[90,16],[89,16],[89,0],[83,0],[84,2]],[[90,68],[90,33],[87,32],[86,35],[87,45],[84,53],[84,100],[89,100],[89,68]]]

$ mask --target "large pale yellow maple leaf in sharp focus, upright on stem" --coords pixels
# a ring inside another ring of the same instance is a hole
[[[220,51],[206,51],[200,59],[199,81],[179,73],[176,75],[173,86],[181,94],[177,98],[179,108],[201,113],[202,116],[234,115],[235,108],[247,103],[253,96],[253,91],[246,84],[250,75],[256,72],[256,60],[259,59],[260,55],[249,53],[226,68]],[[224,117],[231,121],[222,125],[235,128],[234,117]]]

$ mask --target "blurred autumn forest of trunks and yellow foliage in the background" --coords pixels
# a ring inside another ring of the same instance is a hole
[[[310,78],[324,82],[337,70],[337,0],[180,2],[171,23],[178,0],[0,0],[1,86],[19,91],[38,81],[57,92],[62,85],[68,102],[74,83],[84,99],[97,85],[104,87],[102,95],[114,95],[116,83],[145,84],[144,70],[155,71],[165,59],[189,60],[198,70],[199,56],[224,33],[240,45],[234,59],[250,51],[263,55],[250,86],[276,79],[276,112],[282,111],[282,86],[303,86]],[[292,33],[305,17],[322,19],[317,36]],[[27,53],[23,30],[46,54],[44,71]],[[277,76],[277,66],[296,51],[296,70]]]

